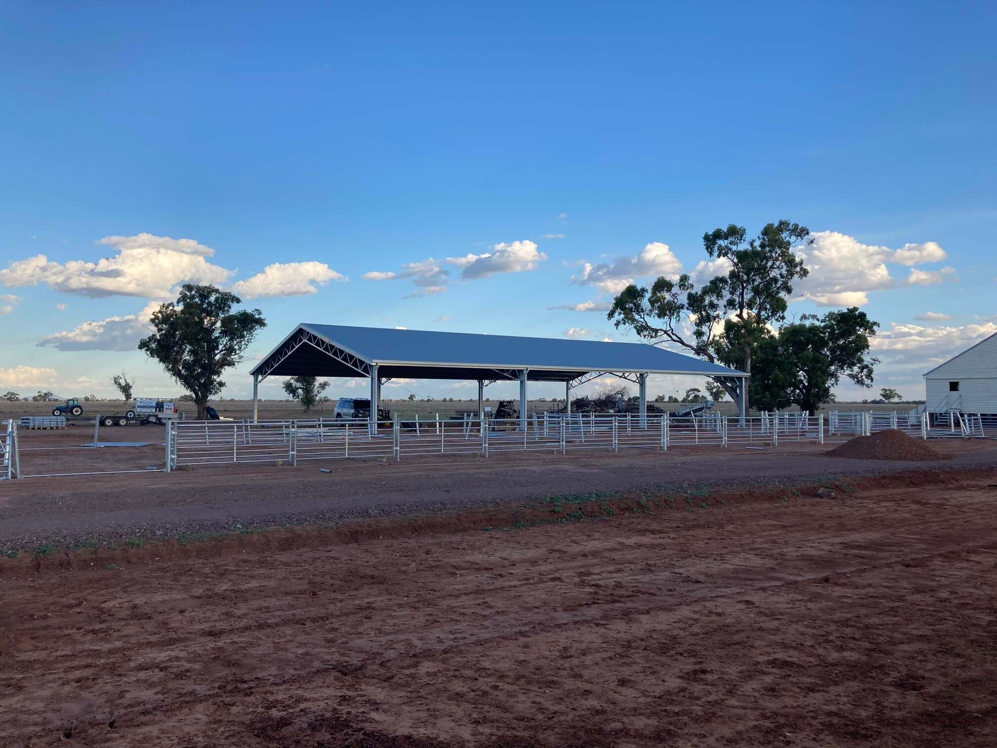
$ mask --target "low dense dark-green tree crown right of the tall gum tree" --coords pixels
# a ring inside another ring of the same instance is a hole
[[[800,322],[783,325],[756,347],[758,365],[750,387],[755,407],[778,410],[796,404],[814,415],[841,377],[871,387],[878,359],[866,354],[878,326],[854,306],[823,317],[805,314]]]

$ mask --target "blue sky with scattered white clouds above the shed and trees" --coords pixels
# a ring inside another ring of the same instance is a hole
[[[0,6],[4,391],[177,392],[131,348],[184,279],[254,295],[254,355],[298,321],[632,340],[550,307],[782,217],[818,239],[792,311],[878,320],[877,389],[997,332],[990,4],[207,5]]]

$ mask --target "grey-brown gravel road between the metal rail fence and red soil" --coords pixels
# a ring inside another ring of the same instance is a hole
[[[233,529],[337,523],[481,506],[522,504],[550,496],[653,494],[664,490],[786,486],[831,475],[909,470],[909,462],[829,459],[833,445],[778,448],[684,447],[407,457],[402,462],[322,460],[201,466],[168,475],[159,426],[102,429],[101,439],[148,441],[143,448],[46,451],[92,438],[92,429],[21,434],[25,474],[136,470],[129,475],[32,478],[0,483],[0,551],[45,544],[121,542]],[[997,468],[991,440],[932,440],[946,458],[934,470]],[[36,450],[37,451],[32,451]],[[331,471],[320,472],[321,468]]]

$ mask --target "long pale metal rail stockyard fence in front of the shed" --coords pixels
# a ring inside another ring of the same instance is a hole
[[[997,430],[997,417],[967,414],[897,414],[831,411],[828,417],[804,413],[757,416],[674,414],[534,414],[525,427],[518,419],[479,419],[474,414],[444,420],[380,421],[302,419],[273,421],[168,421],[167,473],[183,466],[227,463],[288,463],[312,460],[402,460],[427,455],[675,448],[778,447],[781,443],[837,443],[884,430],[920,439],[985,438]],[[990,434],[988,434],[988,431]],[[95,437],[95,443],[96,443]],[[30,449],[30,448],[29,448]],[[70,449],[70,448],[41,448]],[[93,471],[65,475],[99,475]],[[63,475],[63,474],[51,474]],[[20,466],[18,424],[0,423],[0,480],[36,477]]]

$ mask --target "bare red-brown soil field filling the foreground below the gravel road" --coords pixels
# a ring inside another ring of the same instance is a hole
[[[997,470],[825,483],[0,559],[0,745],[997,744]]]

